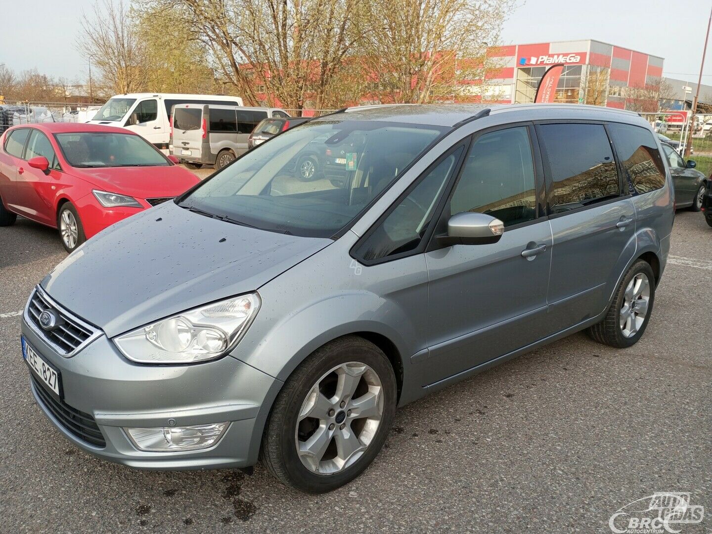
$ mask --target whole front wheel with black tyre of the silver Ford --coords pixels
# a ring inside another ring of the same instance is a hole
[[[292,373],[272,407],[261,459],[286,486],[308,493],[360,475],[393,423],[397,385],[382,350],[356,335],[328,342]]]

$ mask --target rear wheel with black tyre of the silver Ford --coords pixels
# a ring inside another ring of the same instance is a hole
[[[650,319],[655,300],[655,275],[650,264],[638,260],[623,277],[604,319],[587,330],[604,345],[625,348],[638,342]]]

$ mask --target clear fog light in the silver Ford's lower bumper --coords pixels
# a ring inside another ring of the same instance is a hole
[[[171,452],[207,449],[218,442],[229,423],[194,424],[144,429],[125,428],[129,439],[141,451]]]

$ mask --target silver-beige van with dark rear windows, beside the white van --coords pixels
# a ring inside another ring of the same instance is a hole
[[[278,108],[177,105],[171,129],[172,153],[188,167],[208,164],[222,169],[247,152],[252,130],[268,117],[289,115]]]

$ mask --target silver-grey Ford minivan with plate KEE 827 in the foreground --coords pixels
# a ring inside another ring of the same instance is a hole
[[[344,143],[338,186],[290,167]],[[60,263],[23,314],[31,390],[100,458],[261,458],[289,486],[329,491],[372,462],[398,406],[579,330],[637,342],[673,219],[636,113],[342,110]]]

